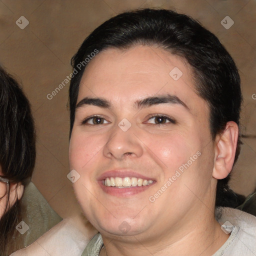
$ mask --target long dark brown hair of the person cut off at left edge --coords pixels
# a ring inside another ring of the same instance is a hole
[[[35,130],[30,104],[17,81],[0,67],[0,165],[10,183],[29,181],[35,164]],[[17,194],[16,194],[17,195]],[[16,196],[17,198],[17,196]],[[7,200],[0,218],[0,255],[15,250],[20,205]],[[17,231],[16,231],[17,232]]]

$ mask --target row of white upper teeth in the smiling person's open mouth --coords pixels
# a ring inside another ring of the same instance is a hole
[[[147,180],[136,177],[107,177],[104,179],[105,186],[117,186],[118,188],[123,187],[134,187],[134,186],[146,186],[152,184],[153,180]]]

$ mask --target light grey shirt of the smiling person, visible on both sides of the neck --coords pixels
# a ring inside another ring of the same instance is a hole
[[[215,216],[221,229],[230,236],[212,256],[256,256],[256,217],[244,211],[224,207]],[[103,246],[102,237],[95,234],[81,256],[98,256]]]

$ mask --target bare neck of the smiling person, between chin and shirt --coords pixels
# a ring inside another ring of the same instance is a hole
[[[182,219],[176,227],[168,228],[168,231],[162,232],[160,236],[153,236],[155,232],[151,232],[153,234],[151,237],[145,233],[121,237],[101,234],[105,246],[100,256],[212,255],[228,239],[229,234],[225,234],[220,229],[220,224],[215,220],[214,214],[207,218],[202,218],[202,216],[207,216],[206,212],[200,214],[196,220],[190,218],[190,221],[186,222]],[[181,224],[182,221],[186,224]]]

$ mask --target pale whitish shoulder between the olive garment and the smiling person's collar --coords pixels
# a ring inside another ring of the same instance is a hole
[[[72,220],[63,219],[35,242],[10,256],[80,256],[95,231],[81,232]]]

